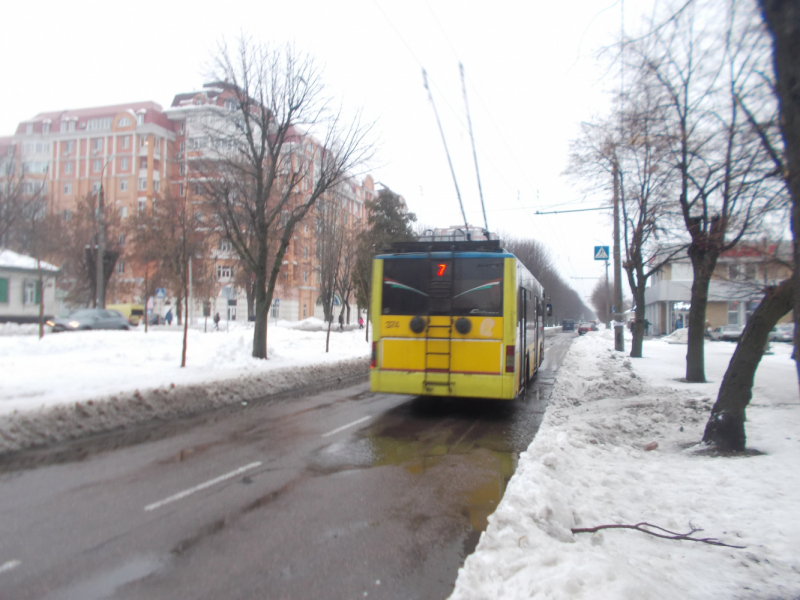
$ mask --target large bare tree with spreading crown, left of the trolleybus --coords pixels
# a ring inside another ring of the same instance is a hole
[[[253,356],[267,358],[267,315],[295,226],[317,200],[371,158],[360,114],[331,111],[320,69],[291,46],[242,37],[221,45],[212,75],[221,107],[198,119],[213,150],[195,179],[225,237],[255,277]],[[251,233],[252,232],[252,233]]]

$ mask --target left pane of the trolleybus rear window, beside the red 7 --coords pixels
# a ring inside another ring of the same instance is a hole
[[[426,262],[416,259],[383,261],[384,315],[419,315],[428,308]]]

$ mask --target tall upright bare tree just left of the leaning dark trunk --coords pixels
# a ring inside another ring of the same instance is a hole
[[[719,256],[757,232],[784,197],[743,98],[763,88],[763,31],[739,0],[725,19],[696,2],[630,45],[664,111],[660,143],[674,174],[677,213],[693,268],[686,380],[705,381],[703,335],[711,276]],[[763,96],[762,96],[763,99]],[[771,110],[766,106],[757,112]]]

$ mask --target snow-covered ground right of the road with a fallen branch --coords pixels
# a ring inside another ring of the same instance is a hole
[[[773,363],[768,373],[785,372],[794,402],[775,402],[757,384],[748,445],[764,454],[732,458],[694,445],[713,404],[709,385],[651,380],[650,372],[639,372],[651,361],[631,360],[612,348],[611,332],[573,343],[544,423],[451,598],[800,594],[800,483],[790,476],[800,460],[800,407],[789,350],[764,360]],[[729,358],[730,344],[728,349]],[[685,368],[681,350],[663,341],[645,345],[660,366],[653,372],[669,367],[671,377]],[[707,367],[721,380],[725,364],[714,352]],[[657,448],[646,450],[654,442]],[[699,527],[696,537],[746,549],[629,530],[570,531],[640,522],[680,533]]]

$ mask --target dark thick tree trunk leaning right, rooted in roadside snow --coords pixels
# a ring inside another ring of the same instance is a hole
[[[722,379],[717,401],[711,409],[703,441],[722,450],[745,448],[745,409],[753,397],[753,379],[764,354],[769,332],[792,309],[792,280],[767,288],[753,312]]]

